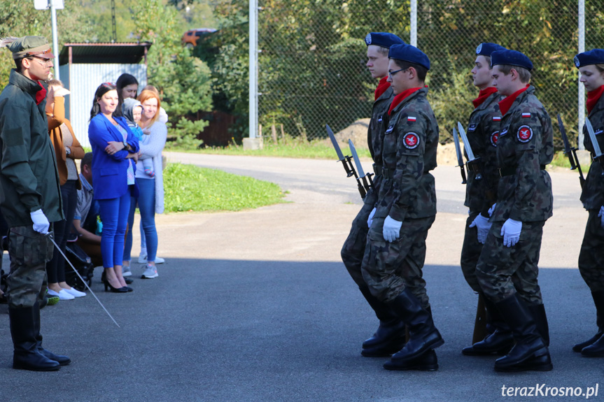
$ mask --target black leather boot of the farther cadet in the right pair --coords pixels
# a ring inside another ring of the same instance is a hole
[[[510,331],[510,327],[502,319],[495,303],[485,295],[483,295],[483,300],[489,320],[487,326],[491,326],[494,331],[474,345],[464,347],[461,353],[466,356],[486,356],[494,353],[507,354],[512,349],[512,346],[514,346],[512,331]]]

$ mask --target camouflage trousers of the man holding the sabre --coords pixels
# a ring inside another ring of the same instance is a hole
[[[52,258],[53,247],[50,239],[31,225],[10,228],[10,273],[6,279],[9,308],[32,307],[41,301],[46,262]]]

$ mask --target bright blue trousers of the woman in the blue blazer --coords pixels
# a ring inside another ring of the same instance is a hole
[[[130,209],[130,192],[120,198],[98,200],[101,208],[103,234],[101,234],[101,254],[104,268],[122,265],[124,237]]]

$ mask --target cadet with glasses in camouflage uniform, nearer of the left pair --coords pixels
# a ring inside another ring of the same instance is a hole
[[[438,125],[424,85],[430,60],[411,45],[388,53],[388,82],[395,97],[388,109],[383,181],[367,235],[363,278],[371,294],[388,303],[409,329],[409,340],[384,364],[389,370],[436,370],[434,326],[421,268],[426,236],[436,215],[434,177]]]

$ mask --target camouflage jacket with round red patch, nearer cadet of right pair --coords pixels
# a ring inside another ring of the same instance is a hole
[[[501,120],[497,160],[503,177],[491,222],[552,216],[552,179],[545,171],[554,157],[552,120],[533,92],[532,85],[521,92]]]

